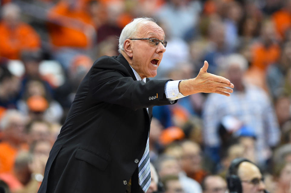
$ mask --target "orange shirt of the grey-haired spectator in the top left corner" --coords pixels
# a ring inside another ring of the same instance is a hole
[[[22,50],[40,47],[40,37],[28,24],[19,23],[11,29],[4,21],[0,22],[0,56],[20,59]]]

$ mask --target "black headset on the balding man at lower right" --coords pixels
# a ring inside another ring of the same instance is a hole
[[[255,166],[257,166],[254,162],[251,162],[249,159],[246,159],[246,158],[233,159],[229,166],[228,174],[226,177],[227,188],[229,190],[229,193],[242,193],[243,191],[242,182],[240,181],[239,176],[237,176],[237,170],[239,168],[239,164],[241,164],[242,162],[250,162],[254,164]],[[264,192],[269,193],[269,191],[267,190],[264,190]]]

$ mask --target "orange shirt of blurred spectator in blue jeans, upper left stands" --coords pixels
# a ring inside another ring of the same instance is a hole
[[[89,14],[84,9],[70,8],[69,4],[61,1],[52,8],[48,17],[51,21],[49,35],[53,45],[80,48],[89,45],[90,35],[86,36],[85,32],[88,32],[90,27],[94,28]]]

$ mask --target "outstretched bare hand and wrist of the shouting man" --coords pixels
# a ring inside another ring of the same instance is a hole
[[[198,92],[218,93],[230,96],[233,84],[222,76],[217,76],[207,72],[208,62],[204,61],[203,67],[194,79],[182,80],[179,84],[179,92],[183,95],[192,95]],[[230,87],[230,88],[227,88]]]

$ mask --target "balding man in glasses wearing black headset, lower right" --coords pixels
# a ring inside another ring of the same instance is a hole
[[[256,164],[245,158],[232,160],[227,175],[229,193],[269,193]]]

